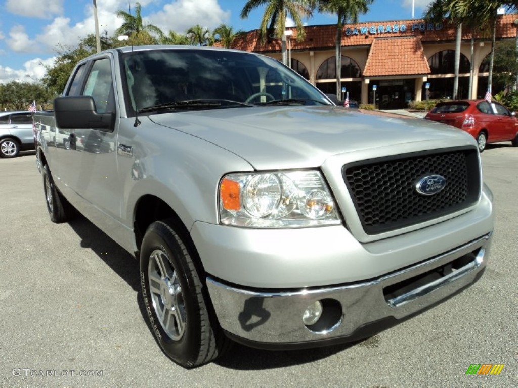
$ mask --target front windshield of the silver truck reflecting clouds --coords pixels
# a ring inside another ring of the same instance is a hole
[[[153,49],[123,54],[134,111],[171,107],[178,101],[225,101],[218,108],[272,105],[286,100],[304,105],[332,105],[315,87],[274,58],[247,52]],[[239,102],[236,104],[228,101]],[[176,104],[176,109],[193,104]],[[215,105],[198,104],[209,109]]]

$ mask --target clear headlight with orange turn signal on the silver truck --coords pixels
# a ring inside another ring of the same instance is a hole
[[[249,228],[299,228],[341,223],[319,171],[236,173],[219,189],[220,221]]]

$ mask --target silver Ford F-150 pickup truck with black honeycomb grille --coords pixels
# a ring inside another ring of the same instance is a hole
[[[267,56],[104,51],[34,124],[51,220],[77,210],[135,255],[153,335],[185,367],[232,340],[366,338],[486,266],[493,198],[469,135],[337,107]]]

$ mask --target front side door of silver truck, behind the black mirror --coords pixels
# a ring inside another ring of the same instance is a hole
[[[109,56],[94,59],[86,72],[79,95],[91,96],[98,113],[117,111],[113,78]],[[69,137],[71,158],[66,178],[85,202],[85,209],[92,212],[85,215],[104,225],[112,217],[119,219],[122,185],[117,177],[117,127],[113,131],[75,129]]]

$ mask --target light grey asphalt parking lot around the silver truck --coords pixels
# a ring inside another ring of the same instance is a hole
[[[82,217],[49,220],[34,153],[0,159],[0,386],[516,387],[518,148],[490,145],[482,160],[496,226],[476,285],[353,345],[236,345],[185,370],[143,318],[137,262]],[[469,376],[470,364],[505,366]]]

